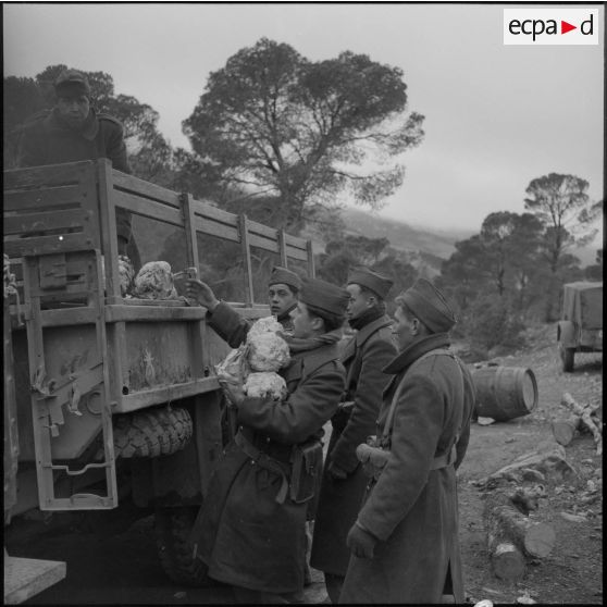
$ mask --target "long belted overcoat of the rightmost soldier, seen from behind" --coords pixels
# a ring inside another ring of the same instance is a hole
[[[422,355],[447,346],[446,334],[431,335],[386,369],[395,377],[384,395],[377,434],[402,384],[389,457],[357,520],[379,542],[373,558],[351,556],[340,603],[439,603],[443,593],[463,603],[456,469],[468,446],[474,386],[450,356],[431,355],[416,364]],[[449,454],[454,444],[455,466],[433,470],[434,459]]]

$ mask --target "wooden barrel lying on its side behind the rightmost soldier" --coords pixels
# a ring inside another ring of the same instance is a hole
[[[484,367],[470,371],[478,416],[506,421],[531,413],[537,405],[537,383],[531,369]]]

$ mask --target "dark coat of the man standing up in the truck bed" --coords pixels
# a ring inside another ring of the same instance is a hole
[[[122,124],[108,114],[90,109],[84,127],[71,128],[57,110],[39,112],[23,127],[17,151],[17,166],[42,166],[108,158],[112,166],[131,173]],[[117,235],[131,238],[131,214],[116,209]]]

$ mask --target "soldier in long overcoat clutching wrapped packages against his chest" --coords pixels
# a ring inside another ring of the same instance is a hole
[[[337,343],[348,298],[324,281],[304,282],[290,313],[292,359],[281,370],[284,399],[251,398],[241,385],[225,385],[239,430],[211,476],[191,540],[209,575],[231,584],[238,603],[301,599],[322,426],[344,391]]]

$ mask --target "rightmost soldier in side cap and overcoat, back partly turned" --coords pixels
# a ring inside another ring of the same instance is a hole
[[[420,278],[396,298],[399,354],[386,367],[379,442],[357,455],[371,476],[348,533],[339,603],[463,603],[456,470],[470,436],[474,386],[448,349],[456,320]]]

